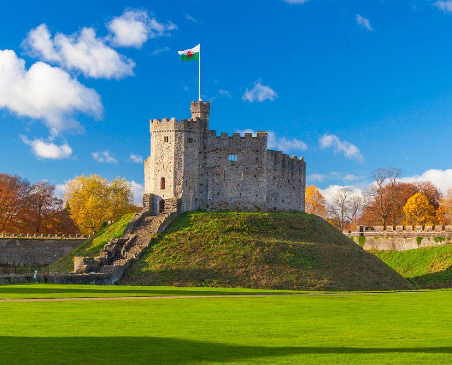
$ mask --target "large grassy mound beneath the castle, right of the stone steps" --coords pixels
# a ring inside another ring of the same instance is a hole
[[[120,282],[292,290],[412,288],[325,220],[290,213],[181,215]]]

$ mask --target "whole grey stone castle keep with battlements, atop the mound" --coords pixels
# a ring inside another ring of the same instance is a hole
[[[191,103],[191,119],[153,119],[143,208],[151,215],[213,211],[304,211],[306,163],[267,150],[267,132],[209,130],[210,102]]]

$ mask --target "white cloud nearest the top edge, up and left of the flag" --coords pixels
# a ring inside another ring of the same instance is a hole
[[[141,47],[149,38],[170,35],[177,26],[170,21],[159,23],[146,10],[129,9],[106,24],[113,33],[111,42],[119,47]]]

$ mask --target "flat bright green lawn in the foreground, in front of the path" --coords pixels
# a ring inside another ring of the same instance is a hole
[[[20,285],[8,286],[14,287]],[[27,287],[33,285],[22,285],[23,290]],[[34,288],[46,290],[45,285]],[[71,286],[65,288],[70,290]],[[112,292],[115,289],[108,288]],[[77,290],[83,288],[74,285],[72,289],[77,296]],[[162,289],[154,289],[160,295]],[[149,293],[152,288],[146,290]],[[165,290],[170,295],[171,290],[179,292],[181,288]],[[6,293],[2,286],[0,295],[8,297],[11,292]],[[70,292],[65,295],[70,296]],[[2,300],[0,363],[447,364],[452,361],[451,303],[452,290],[62,302]]]

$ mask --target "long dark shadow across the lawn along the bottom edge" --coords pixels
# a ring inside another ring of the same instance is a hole
[[[312,354],[451,354],[452,347],[260,347],[163,337],[0,337],[3,363],[170,363],[229,362]],[[33,361],[33,362],[31,362]]]

